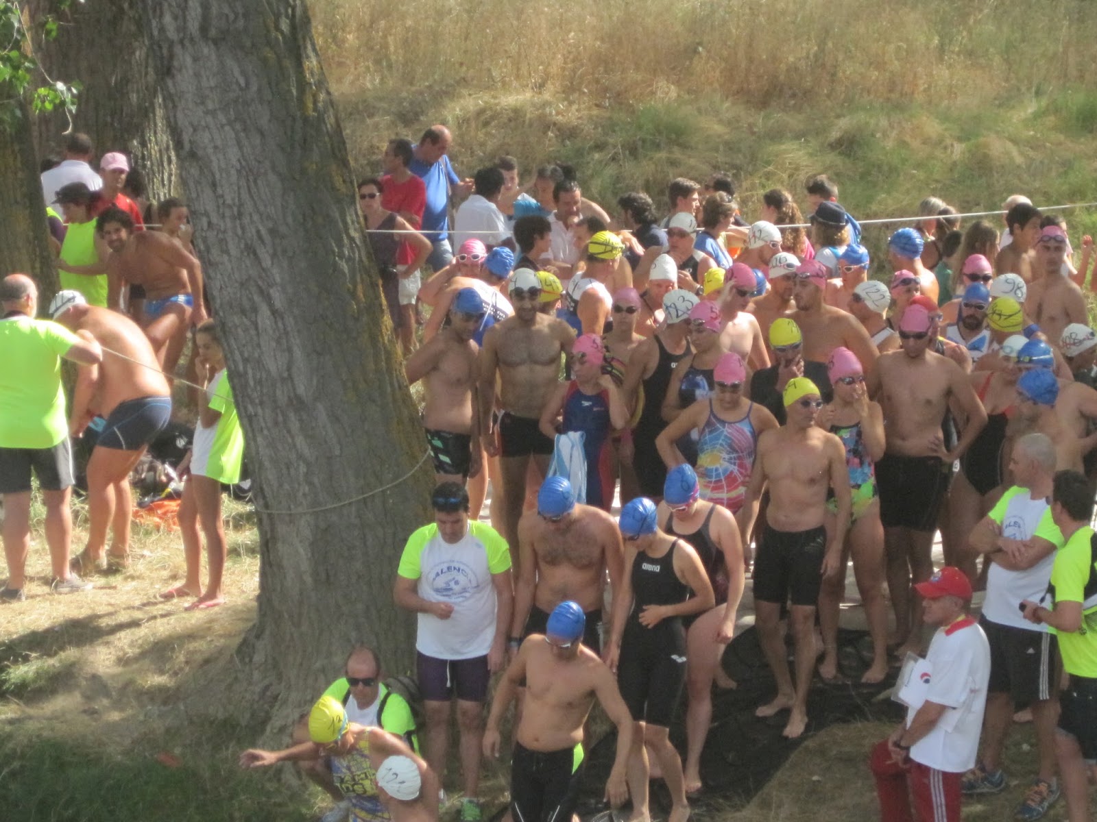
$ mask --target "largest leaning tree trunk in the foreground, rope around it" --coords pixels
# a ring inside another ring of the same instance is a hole
[[[389,592],[432,475],[304,2],[144,8],[257,483],[259,620],[237,655],[275,730],[355,641],[409,669]]]

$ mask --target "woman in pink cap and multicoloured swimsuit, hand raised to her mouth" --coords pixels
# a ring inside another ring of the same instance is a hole
[[[874,684],[887,675],[887,610],[881,591],[884,528],[880,523],[875,472],[875,461],[884,454],[884,418],[880,406],[869,399],[861,361],[849,349],[834,350],[827,362],[827,376],[834,387],[834,400],[819,411],[816,425],[827,429],[846,446],[853,507],[838,574],[824,578],[819,590],[824,653],[818,671],[825,682],[838,677],[838,606],[846,590],[846,562],[852,556],[857,590],[872,637],[872,665],[861,676],[861,682]],[[837,511],[837,504],[830,500],[827,503],[828,529],[834,527]]]

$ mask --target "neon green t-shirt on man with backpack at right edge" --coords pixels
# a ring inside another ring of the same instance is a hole
[[[1078,602],[1083,608],[1078,630],[1056,631],[1063,667],[1068,674],[1097,678],[1097,567],[1090,546],[1093,536],[1094,529],[1083,526],[1055,551],[1051,595],[1056,603]]]

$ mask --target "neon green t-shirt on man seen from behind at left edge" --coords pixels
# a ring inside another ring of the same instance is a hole
[[[68,436],[60,358],[78,342],[49,320],[0,320],[0,448],[53,448]]]

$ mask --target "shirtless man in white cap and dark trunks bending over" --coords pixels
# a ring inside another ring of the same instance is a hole
[[[111,352],[99,365],[79,370],[72,392],[69,433],[73,437],[81,436],[97,414],[106,419],[88,460],[88,545],[72,558],[72,567],[80,574],[99,569],[106,532],[113,526],[105,567],[121,570],[129,559],[129,471],[171,419],[171,387],[152,345],[128,317],[89,306],[82,294],[71,290],[57,293],[49,316],[77,336],[95,340]]]

